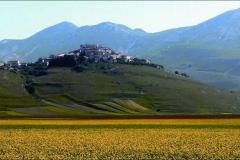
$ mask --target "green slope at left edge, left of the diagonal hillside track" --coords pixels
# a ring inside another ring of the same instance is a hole
[[[49,110],[50,106],[33,98],[25,91],[24,79],[20,74],[0,70],[0,118],[65,115]]]

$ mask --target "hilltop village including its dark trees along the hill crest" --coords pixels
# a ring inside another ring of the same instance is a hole
[[[71,67],[73,70],[82,72],[90,63],[101,64],[101,68],[108,68],[108,70],[115,70],[110,64],[129,64],[129,65],[147,65],[159,69],[164,69],[162,65],[151,63],[148,59],[140,59],[129,56],[121,52],[116,52],[111,48],[104,47],[98,44],[80,45],[80,48],[66,53],[57,55],[50,55],[47,58],[39,58],[34,63],[20,63],[19,60],[8,61],[0,63],[0,69],[7,69],[13,72],[21,72],[23,74],[30,74],[41,76],[47,74],[47,69],[51,67]],[[108,64],[108,66],[106,66]],[[189,77],[185,73],[178,73],[184,77]]]

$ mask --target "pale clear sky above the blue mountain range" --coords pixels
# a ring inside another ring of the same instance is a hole
[[[62,21],[77,26],[110,21],[159,32],[238,8],[240,1],[0,1],[0,40],[27,38]]]

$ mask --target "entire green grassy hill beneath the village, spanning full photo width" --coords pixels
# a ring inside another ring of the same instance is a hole
[[[83,72],[59,67],[29,78],[35,98],[20,74],[0,71],[1,117],[240,113],[239,94],[149,66],[89,64]]]

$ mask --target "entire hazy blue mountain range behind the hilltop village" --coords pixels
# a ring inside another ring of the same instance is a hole
[[[82,27],[63,22],[27,39],[0,41],[0,59],[34,61],[94,43],[149,58],[213,86],[239,91],[239,20],[240,9],[236,9],[195,26],[157,33],[111,22]]]

